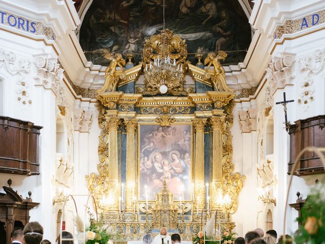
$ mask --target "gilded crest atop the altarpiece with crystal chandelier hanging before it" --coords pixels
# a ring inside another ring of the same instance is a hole
[[[163,30],[146,42],[144,56],[144,95],[186,95],[186,44],[170,30]]]

